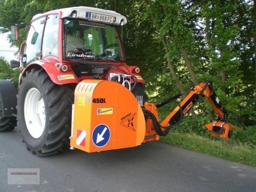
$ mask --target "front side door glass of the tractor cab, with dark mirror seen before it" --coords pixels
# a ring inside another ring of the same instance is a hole
[[[40,59],[42,34],[45,18],[35,20],[31,23],[26,40],[27,64]]]

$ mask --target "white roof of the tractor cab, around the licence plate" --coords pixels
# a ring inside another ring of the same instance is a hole
[[[110,11],[110,10],[104,10],[104,9],[99,9],[99,8],[94,8],[94,7],[84,7],[84,6],[80,6],[80,7],[69,7],[69,8],[63,8],[63,9],[57,9],[57,10],[52,10],[49,12],[45,12],[45,13],[39,13],[36,14],[32,20],[35,20],[39,17],[42,17],[44,15],[48,15],[51,13],[58,13],[58,12],[62,12],[62,17],[61,18],[72,18],[72,13],[76,12],[77,13],[77,17],[76,18],[80,18],[80,19],[88,19],[88,13],[95,13],[95,14],[101,14],[101,15],[106,15],[106,16],[113,16],[114,25],[120,25],[120,22],[123,20],[124,21],[124,25],[127,23],[126,17],[124,17],[123,15],[121,15],[120,13],[117,13],[115,11]]]

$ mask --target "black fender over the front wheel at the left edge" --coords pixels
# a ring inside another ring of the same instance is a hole
[[[3,117],[17,113],[17,90],[8,80],[0,80],[0,106]]]

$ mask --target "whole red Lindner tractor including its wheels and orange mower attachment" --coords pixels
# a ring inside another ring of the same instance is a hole
[[[19,93],[10,81],[0,81],[0,131],[12,130],[17,117],[23,141],[38,156],[70,145],[87,152],[133,147],[166,135],[206,96],[219,115],[209,129],[226,138],[233,127],[223,120],[226,111],[209,82],[195,87],[158,123],[157,105],[146,102],[140,68],[125,62],[117,26],[126,22],[119,13],[92,7],[35,15],[19,60],[10,63],[20,70]],[[13,26],[12,40],[17,38]]]

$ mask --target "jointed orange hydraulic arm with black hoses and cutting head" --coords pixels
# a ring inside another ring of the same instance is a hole
[[[189,110],[203,97],[207,97],[209,102],[212,105],[214,111],[218,114],[217,120],[214,120],[212,123],[206,124],[206,128],[211,131],[212,136],[220,136],[222,138],[230,137],[230,130],[234,130],[234,126],[228,123],[228,111],[222,108],[222,104],[212,89],[212,82],[208,81],[201,83],[193,88],[188,93],[188,95],[180,102],[177,103],[177,107],[172,110],[172,112],[161,122],[158,122],[158,116],[156,109],[177,99],[181,94],[172,97],[169,100],[166,100],[160,104],[154,105],[152,103],[145,103],[142,108],[146,116],[146,133],[151,131],[152,127],[157,135],[165,136],[170,131],[171,127],[179,124],[182,120],[182,117],[189,112]],[[147,121],[149,121],[147,126]],[[151,126],[151,127],[150,127]],[[151,135],[149,133],[149,135]],[[147,136],[145,137],[147,139]],[[148,137],[150,139],[150,137]]]

